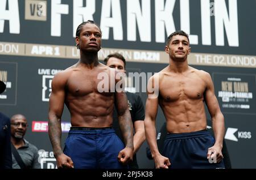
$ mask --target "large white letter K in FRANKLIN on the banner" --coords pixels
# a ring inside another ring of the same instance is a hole
[[[165,42],[165,28],[167,35],[175,31],[174,11],[175,0],[167,0],[164,5],[164,0],[155,1],[155,41]]]

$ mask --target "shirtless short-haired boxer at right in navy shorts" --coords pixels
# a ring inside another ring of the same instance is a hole
[[[213,82],[203,70],[188,66],[191,52],[187,33],[168,36],[165,47],[169,65],[148,80],[145,132],[156,168],[224,168],[222,142],[224,116],[214,95]],[[158,82],[158,83],[155,83]],[[214,138],[205,131],[204,103],[212,118]],[[156,144],[158,105],[166,118],[168,135],[163,155]]]

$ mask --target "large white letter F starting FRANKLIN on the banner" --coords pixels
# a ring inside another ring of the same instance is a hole
[[[61,36],[61,14],[68,14],[68,5],[61,5],[61,0],[52,0],[51,36]]]

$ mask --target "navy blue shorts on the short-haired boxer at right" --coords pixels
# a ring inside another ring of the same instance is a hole
[[[170,169],[225,168],[223,160],[210,163],[207,159],[208,148],[214,143],[212,134],[207,130],[167,134],[163,156],[169,158]]]

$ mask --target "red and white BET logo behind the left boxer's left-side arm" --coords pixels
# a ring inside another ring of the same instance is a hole
[[[71,123],[61,122],[62,132],[68,132],[70,130]],[[32,132],[48,132],[47,121],[32,121]]]

